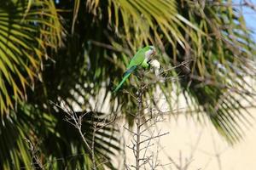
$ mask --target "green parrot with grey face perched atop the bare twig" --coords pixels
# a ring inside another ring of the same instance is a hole
[[[113,90],[113,92],[117,92],[119,88],[123,85],[125,80],[130,77],[133,71],[136,71],[139,66],[142,66],[144,69],[148,69],[149,61],[155,54],[154,46],[147,46],[145,48],[141,48],[137,51],[134,57],[131,59],[130,64],[127,66],[127,69],[123,75],[123,80],[119,83],[119,85]]]

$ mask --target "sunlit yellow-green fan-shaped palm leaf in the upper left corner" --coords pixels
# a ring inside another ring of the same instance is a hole
[[[62,27],[51,1],[8,1],[0,7],[0,112],[26,99],[46,48],[61,45]]]

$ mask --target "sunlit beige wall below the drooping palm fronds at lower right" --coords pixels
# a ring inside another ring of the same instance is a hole
[[[250,111],[253,115],[256,110]],[[161,122],[159,129],[169,132],[161,137],[160,150],[158,156],[162,164],[176,161],[178,165],[185,166],[189,163],[188,170],[255,170],[256,169],[256,126],[247,131],[247,135],[240,143],[230,146],[221,138],[210,123],[202,126],[199,123],[187,120],[184,116],[179,116],[176,120]],[[122,128],[122,127],[120,127]],[[130,144],[131,136],[125,132],[125,142]],[[156,143],[156,141],[155,141]],[[153,148],[155,153],[156,147]],[[134,162],[131,150],[126,150],[127,163]],[[219,158],[219,159],[218,159]],[[180,161],[182,160],[182,161]],[[182,163],[180,163],[182,162]],[[119,161],[118,164],[123,164]],[[120,167],[122,169],[122,167]],[[173,163],[158,169],[177,169]]]

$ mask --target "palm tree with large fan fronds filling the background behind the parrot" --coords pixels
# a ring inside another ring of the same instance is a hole
[[[153,98],[160,87],[172,110],[183,95],[198,121],[207,117],[234,144],[243,136],[241,123],[251,123],[249,112],[241,114],[247,107],[240,100],[253,105],[255,89],[247,81],[256,71],[250,33],[243,16],[226,1],[1,3],[0,166],[89,169],[91,157],[79,133],[51,102],[65,101],[69,108],[88,113],[83,132],[90,144],[93,126],[108,113],[119,111],[132,126],[134,117],[128,112],[136,111],[137,102],[111,92],[132,54],[145,44],[158,48],[160,63],[170,70],[166,77],[182,76],[157,82],[145,96]],[[175,65],[180,66],[172,69]],[[131,93],[137,90],[129,82],[125,86]],[[108,101],[109,111],[102,110]],[[157,105],[154,98],[152,104]],[[96,133],[96,157],[108,160],[104,166],[113,168],[117,135],[114,127]],[[29,144],[38,152],[28,150]]]

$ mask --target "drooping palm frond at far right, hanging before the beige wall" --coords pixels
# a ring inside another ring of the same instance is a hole
[[[191,50],[181,55],[175,63],[191,60],[189,73],[180,83],[194,106],[204,111],[228,141],[233,144],[242,138],[244,129],[250,125],[246,117],[251,116],[247,105],[255,99],[255,88],[248,80],[255,78],[255,42],[244,25],[242,16],[232,6],[202,6],[187,3],[183,13],[195,26],[207,32],[207,37],[197,33],[197,42],[190,41]],[[189,10],[187,10],[189,8]],[[254,64],[253,64],[254,63]],[[247,100],[247,104],[242,100]],[[202,109],[201,109],[202,108]]]

